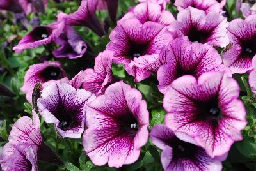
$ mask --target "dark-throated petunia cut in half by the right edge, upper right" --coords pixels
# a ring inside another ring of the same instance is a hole
[[[252,70],[252,59],[256,55],[256,15],[232,20],[228,26],[228,37],[232,48],[223,54],[223,63],[232,73]]]

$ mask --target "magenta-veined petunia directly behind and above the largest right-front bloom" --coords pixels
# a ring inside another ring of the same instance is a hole
[[[209,45],[176,39],[163,50],[165,52],[159,57],[163,65],[157,71],[158,88],[161,93],[166,93],[173,80],[183,75],[193,75],[198,78],[202,73],[228,69],[222,64],[217,50]]]

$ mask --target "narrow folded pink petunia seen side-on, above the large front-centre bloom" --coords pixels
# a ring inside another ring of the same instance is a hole
[[[113,52],[106,50],[95,58],[94,69],[84,71],[83,89],[101,95],[108,85],[116,82],[111,70],[112,57]]]

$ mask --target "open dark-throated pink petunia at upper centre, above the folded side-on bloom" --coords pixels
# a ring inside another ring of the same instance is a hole
[[[150,21],[141,24],[138,19],[129,19],[118,21],[110,40],[106,49],[115,52],[113,62],[124,64],[125,70],[140,81],[150,76],[151,71],[145,68],[157,59],[172,35],[162,24]]]

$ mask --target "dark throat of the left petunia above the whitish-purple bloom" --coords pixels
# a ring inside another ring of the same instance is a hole
[[[49,80],[59,80],[63,78],[63,74],[60,68],[55,66],[49,66],[42,71],[41,76],[44,78],[45,82]]]

